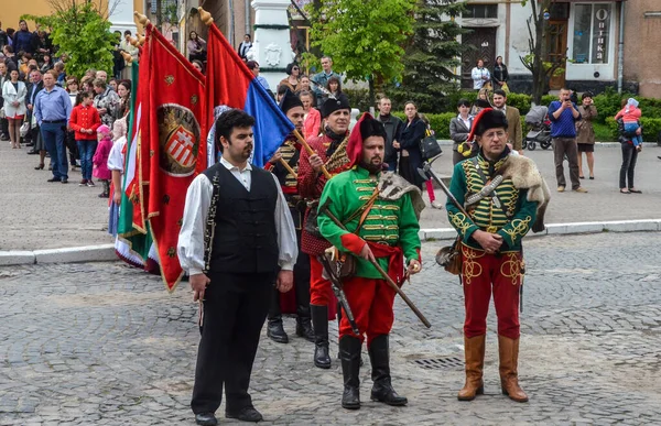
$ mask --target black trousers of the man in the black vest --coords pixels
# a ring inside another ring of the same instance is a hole
[[[269,310],[275,273],[213,274],[205,292],[193,413],[215,413],[225,386],[227,412],[252,406],[252,363]]]

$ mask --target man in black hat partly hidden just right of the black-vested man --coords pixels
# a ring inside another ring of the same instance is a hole
[[[299,133],[303,131],[303,102],[292,91],[288,90],[281,102],[280,109],[286,118],[296,127]],[[290,134],[284,144],[275,152],[275,155],[266,164],[264,168],[273,173],[282,193],[286,199],[294,227],[296,228],[296,240],[299,241],[299,258],[294,265],[294,290],[296,295],[296,336],[303,337],[308,341],[314,341],[314,332],[310,318],[310,256],[301,249],[301,230],[303,227],[303,215],[305,215],[305,200],[299,195],[296,173],[299,171],[299,157],[301,156],[301,143],[295,135]],[[291,171],[282,162],[285,162]],[[289,336],[282,327],[282,309],[280,292],[273,288],[271,309],[269,310],[269,320],[267,336],[279,343],[286,343]]]

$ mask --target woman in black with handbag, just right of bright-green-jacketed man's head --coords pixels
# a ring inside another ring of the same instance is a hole
[[[418,173],[418,167],[422,166],[420,142],[425,136],[426,125],[420,119],[418,107],[412,101],[404,103],[404,114],[407,116],[404,130],[397,142],[392,142],[392,146],[400,152],[399,174],[422,189],[424,181]]]

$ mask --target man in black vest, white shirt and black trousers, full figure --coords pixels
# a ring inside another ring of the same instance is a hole
[[[223,157],[186,194],[177,252],[204,305],[191,402],[198,425],[217,424],[224,385],[226,417],[262,419],[248,393],[252,363],[273,283],[293,285],[296,231],[278,178],[248,163],[253,124],[237,109],[218,118]]]

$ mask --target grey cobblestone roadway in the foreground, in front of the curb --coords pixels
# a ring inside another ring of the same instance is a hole
[[[254,404],[266,424],[658,424],[658,233],[528,241],[519,371],[530,403],[499,392],[494,328],[486,395],[456,400],[463,297],[456,277],[427,262],[404,288],[432,328],[395,303],[393,383],[409,406],[367,401],[365,354],[364,407],[342,409],[336,360],[329,371],[316,369],[311,343],[292,337],[278,345],[266,336],[251,385]],[[436,249],[425,243],[424,259]],[[185,283],[167,294],[158,277],[119,262],[1,269],[0,425],[193,424],[196,310]],[[293,335],[294,320],[285,328]],[[332,324],[333,336],[336,330]],[[423,368],[422,360],[438,368]]]

